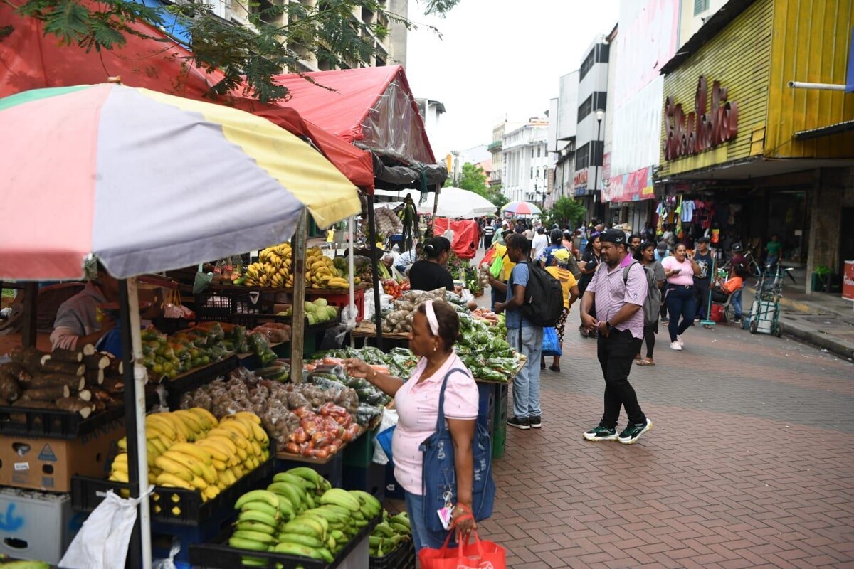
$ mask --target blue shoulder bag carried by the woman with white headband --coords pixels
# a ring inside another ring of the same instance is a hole
[[[445,424],[445,387],[447,378],[454,372],[465,374],[465,369],[452,369],[442,380],[439,393],[439,416],[436,433],[424,440],[418,449],[424,453],[421,467],[421,494],[424,496],[424,525],[430,531],[447,531],[436,511],[457,502],[457,471],[453,465],[453,437]],[[475,421],[475,438],[471,442],[474,481],[471,488],[471,512],[475,520],[485,520],[492,515],[495,502],[495,483],[492,479],[492,440],[483,425]]]

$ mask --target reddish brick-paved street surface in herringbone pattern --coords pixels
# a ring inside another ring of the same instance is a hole
[[[576,322],[542,430],[508,427],[495,462],[481,526],[508,566],[854,567],[854,364],[725,325],[671,351],[662,330],[658,365],[631,374],[654,428],[589,443],[604,380]]]

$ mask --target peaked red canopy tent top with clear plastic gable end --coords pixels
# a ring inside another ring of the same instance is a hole
[[[290,90],[289,107],[343,140],[404,162],[436,163],[403,67],[291,73],[275,79]]]

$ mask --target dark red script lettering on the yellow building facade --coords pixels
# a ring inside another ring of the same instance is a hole
[[[692,112],[686,114],[681,103],[668,96],[664,102],[664,160],[699,154],[733,140],[739,131],[739,107],[727,99],[728,90],[714,81],[708,108],[709,85],[702,75]]]

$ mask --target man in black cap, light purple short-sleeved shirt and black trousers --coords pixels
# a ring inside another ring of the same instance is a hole
[[[638,403],[629,373],[643,338],[643,303],[646,299],[646,273],[629,255],[623,229],[609,229],[600,235],[602,265],[582,297],[582,324],[598,330],[596,352],[605,377],[605,412],[597,427],[584,433],[590,441],[618,440],[637,442],[652,428]],[[628,267],[628,274],[623,271]],[[596,315],[588,313],[596,307]],[[626,409],[629,422],[617,435],[620,409]]]

